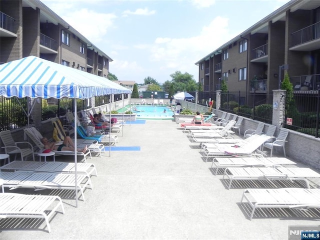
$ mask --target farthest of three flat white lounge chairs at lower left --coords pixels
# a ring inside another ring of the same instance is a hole
[[[61,161],[11,161],[0,167],[1,171],[50,171],[50,172],[67,172],[74,173],[74,162],[61,162]],[[86,174],[88,176],[97,176],[96,168],[93,163],[76,163],[76,170],[80,174]]]

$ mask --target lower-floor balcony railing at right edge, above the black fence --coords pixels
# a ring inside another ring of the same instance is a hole
[[[293,90],[316,90],[320,88],[320,74],[292,76]]]

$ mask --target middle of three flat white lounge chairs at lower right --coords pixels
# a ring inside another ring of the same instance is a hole
[[[301,180],[309,188],[307,177],[320,177],[320,174],[307,167],[228,167],[224,176],[232,180]],[[272,182],[272,181],[270,181]]]

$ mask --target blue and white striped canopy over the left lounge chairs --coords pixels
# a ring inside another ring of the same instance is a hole
[[[0,65],[0,95],[5,97],[90,98],[131,91],[105,77],[36,56]]]

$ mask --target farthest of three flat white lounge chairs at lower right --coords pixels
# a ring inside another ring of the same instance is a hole
[[[244,166],[275,166],[296,164],[285,157],[214,157],[211,168],[215,175],[219,168],[244,167]]]

